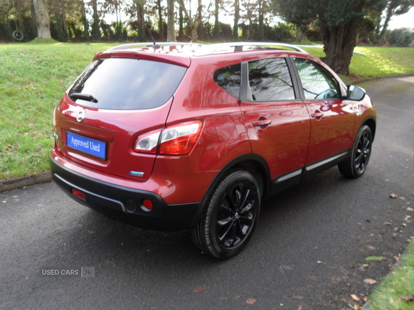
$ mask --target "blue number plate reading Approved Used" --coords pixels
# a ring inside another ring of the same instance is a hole
[[[106,143],[79,134],[66,132],[66,143],[71,149],[106,160]]]

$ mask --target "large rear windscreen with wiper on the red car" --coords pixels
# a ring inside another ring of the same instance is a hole
[[[110,110],[150,109],[159,107],[170,99],[186,69],[157,61],[99,59],[93,61],[79,76],[68,95],[86,107]],[[82,96],[88,99],[83,99]]]

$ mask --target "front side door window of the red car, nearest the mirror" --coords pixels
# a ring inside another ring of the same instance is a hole
[[[308,59],[295,59],[306,99],[339,99],[339,85],[321,65]]]

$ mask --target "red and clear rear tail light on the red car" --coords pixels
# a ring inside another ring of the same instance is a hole
[[[202,125],[201,121],[193,121],[149,132],[137,138],[134,151],[164,155],[189,154],[198,141]]]

